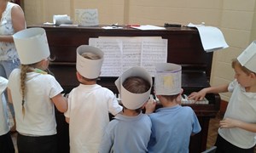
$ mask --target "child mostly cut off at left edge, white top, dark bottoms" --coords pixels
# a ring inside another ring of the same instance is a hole
[[[6,100],[3,94],[7,88],[8,80],[0,77],[0,152],[15,153],[15,147],[9,133]]]

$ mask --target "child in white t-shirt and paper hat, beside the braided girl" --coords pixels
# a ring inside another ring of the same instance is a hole
[[[108,112],[115,116],[122,111],[113,92],[96,84],[100,76],[103,52],[99,48],[81,45],[77,48],[77,78],[79,87],[68,95],[70,152],[98,152]]]

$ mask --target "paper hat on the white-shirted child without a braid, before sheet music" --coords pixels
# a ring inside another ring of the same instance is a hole
[[[100,59],[86,59],[83,54],[92,53]],[[95,79],[100,76],[104,53],[101,49],[93,46],[81,45],[77,48],[77,71],[86,78]]]

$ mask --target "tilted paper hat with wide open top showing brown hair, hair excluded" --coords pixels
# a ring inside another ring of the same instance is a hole
[[[150,83],[150,88],[143,94],[131,93],[123,87],[123,82],[125,82],[125,79],[128,77],[142,77]],[[114,83],[119,90],[119,94],[121,95],[122,104],[127,109],[136,110],[142,107],[149,98],[152,87],[152,77],[148,71],[142,67],[136,66],[125,71]]]

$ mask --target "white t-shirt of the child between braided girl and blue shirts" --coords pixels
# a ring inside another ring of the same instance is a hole
[[[98,152],[102,135],[109,122],[108,112],[122,111],[114,94],[102,86],[83,85],[68,95],[69,138],[71,153]]]

